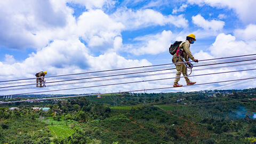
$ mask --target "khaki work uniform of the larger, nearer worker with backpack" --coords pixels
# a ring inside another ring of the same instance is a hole
[[[190,58],[191,60],[195,60],[195,58],[193,57],[192,53],[190,52],[190,43],[189,41],[184,41],[179,45],[179,49],[180,51],[183,52],[183,55],[180,55],[177,53],[175,53],[172,57],[172,62],[183,62],[183,58],[185,59],[185,61],[188,61],[188,58]],[[182,73],[183,76],[185,76],[185,80],[187,83],[190,82],[190,80],[187,77],[187,67],[185,66],[185,63],[175,63],[176,69],[177,69],[177,73],[176,73],[176,78],[174,80],[174,85],[178,84],[178,82],[180,81],[180,75]]]

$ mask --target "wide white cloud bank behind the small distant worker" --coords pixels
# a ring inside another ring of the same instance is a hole
[[[117,46],[118,41],[121,41],[120,37],[116,38]],[[87,47],[79,41],[79,39],[68,40],[55,40],[49,46],[43,47],[42,50],[38,50],[36,53],[31,53],[29,58],[24,61],[13,61],[11,55],[6,56],[5,62],[0,62],[0,69],[3,70],[0,74],[1,81],[6,79],[18,79],[18,78],[30,78],[35,77],[38,71],[47,71],[47,75],[62,75],[62,74],[74,74],[82,73],[86,71],[97,71],[116,68],[138,67],[151,65],[146,59],[131,60],[116,54],[115,52],[107,52],[101,54],[98,57],[89,55]],[[10,62],[10,63],[7,63]],[[19,71],[19,75],[17,75]],[[51,79],[51,78],[50,78]],[[61,79],[59,79],[61,80]],[[49,78],[46,78],[49,81]],[[120,81],[122,82],[122,81]],[[65,89],[70,87],[80,87],[89,85],[109,84],[110,82],[93,83],[93,84],[80,84],[80,85],[66,85],[46,87],[45,90]],[[118,83],[111,82],[111,83]],[[140,85],[140,84],[138,84]],[[131,85],[131,89],[136,89],[138,85]],[[116,90],[116,87],[112,88]],[[95,92],[96,90],[106,89],[106,87],[100,87],[99,89],[81,89],[77,91],[63,91],[60,93],[86,93]],[[122,87],[124,89],[124,87]],[[34,90],[25,90],[20,92],[31,92]],[[16,91],[15,91],[16,92]],[[9,93],[15,93],[9,92]],[[19,92],[19,91],[17,91]],[[53,92],[54,93],[54,92]],[[59,92],[56,92],[59,93]],[[4,94],[4,93],[3,93]]]

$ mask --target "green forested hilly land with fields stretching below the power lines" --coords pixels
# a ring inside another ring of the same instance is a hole
[[[55,95],[29,95],[38,97]],[[253,143],[255,97],[245,89],[1,104],[0,143]]]

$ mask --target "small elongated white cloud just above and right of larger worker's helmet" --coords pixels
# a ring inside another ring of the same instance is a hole
[[[195,25],[202,27],[205,30],[221,30],[225,25],[224,21],[220,20],[205,20],[200,14],[192,17],[192,21]]]

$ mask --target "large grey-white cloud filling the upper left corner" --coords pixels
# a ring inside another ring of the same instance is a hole
[[[1,1],[0,44],[12,49],[41,47],[49,37],[42,30],[54,30],[67,25],[71,9],[65,3],[52,1]]]

